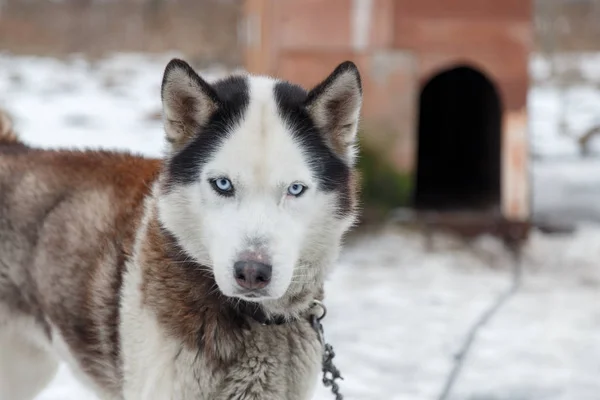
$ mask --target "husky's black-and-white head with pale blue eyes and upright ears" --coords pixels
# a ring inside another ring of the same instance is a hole
[[[316,285],[355,218],[361,105],[354,64],[312,91],[265,77],[209,84],[174,60],[162,86],[171,151],[159,216],[226,296]]]

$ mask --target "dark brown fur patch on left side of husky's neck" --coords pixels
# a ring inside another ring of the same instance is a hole
[[[211,362],[226,362],[249,328],[233,304],[217,289],[212,273],[186,259],[175,239],[149,222],[139,261],[144,266],[143,301],[155,310],[169,335]],[[224,345],[227,342],[226,345]]]

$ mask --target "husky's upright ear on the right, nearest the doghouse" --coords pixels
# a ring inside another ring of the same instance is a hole
[[[340,64],[306,99],[306,108],[325,141],[348,164],[355,160],[361,105],[360,74],[351,61]]]

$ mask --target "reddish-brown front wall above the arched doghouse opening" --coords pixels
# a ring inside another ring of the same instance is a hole
[[[422,80],[470,64],[499,87],[503,105],[526,104],[533,5],[526,0],[397,0],[394,47],[413,50]]]

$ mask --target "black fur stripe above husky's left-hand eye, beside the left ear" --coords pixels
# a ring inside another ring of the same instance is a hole
[[[231,129],[242,120],[250,102],[248,81],[232,76],[215,82],[210,89],[216,96],[217,109],[208,122],[179,153],[169,161],[169,181],[189,184],[198,179],[202,166],[211,158]]]

